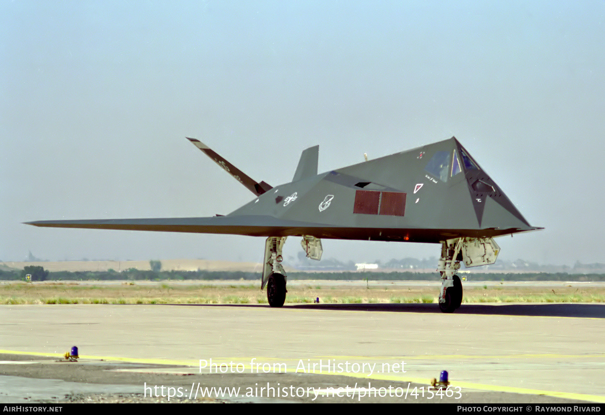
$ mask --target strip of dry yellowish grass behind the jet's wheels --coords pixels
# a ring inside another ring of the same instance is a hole
[[[293,281],[286,303],[411,303],[437,302],[439,281],[352,286],[346,282]],[[497,284],[465,286],[463,302],[605,302],[603,286],[514,287]],[[266,304],[258,282],[3,282],[0,304]]]

